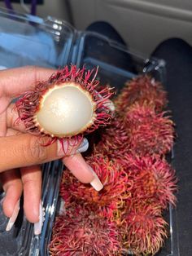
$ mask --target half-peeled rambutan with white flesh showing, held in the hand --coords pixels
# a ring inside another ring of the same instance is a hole
[[[111,120],[108,99],[111,89],[101,90],[95,80],[97,70],[85,71],[72,65],[54,73],[46,82],[38,82],[16,102],[26,130],[56,139],[73,138],[106,126]]]

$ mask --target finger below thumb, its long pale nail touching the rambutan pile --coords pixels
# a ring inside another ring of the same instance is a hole
[[[103,184],[98,179],[97,174],[95,174],[94,170],[85,162],[80,153],[63,157],[63,164],[68,167],[76,179],[79,179],[82,183],[90,183],[97,191],[103,189]]]

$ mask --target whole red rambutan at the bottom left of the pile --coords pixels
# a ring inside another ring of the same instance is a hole
[[[120,232],[91,208],[72,204],[56,218],[49,249],[52,256],[120,255]]]

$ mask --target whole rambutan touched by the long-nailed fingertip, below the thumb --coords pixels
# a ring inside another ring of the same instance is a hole
[[[93,154],[87,157],[86,161],[103,183],[103,189],[97,192],[89,184],[80,183],[72,174],[65,171],[61,192],[63,191],[65,196],[67,189],[77,199],[100,208],[106,208],[105,211],[109,210],[107,207],[110,205],[113,209],[117,208],[120,200],[130,196],[129,190],[133,183],[129,182],[128,175],[116,161],[111,161],[107,156],[103,157],[102,154]]]

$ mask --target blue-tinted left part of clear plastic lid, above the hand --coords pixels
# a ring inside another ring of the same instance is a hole
[[[68,64],[74,29],[64,21],[0,9],[0,65],[14,68]]]

